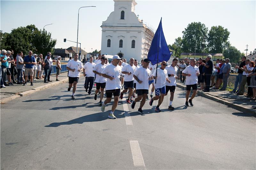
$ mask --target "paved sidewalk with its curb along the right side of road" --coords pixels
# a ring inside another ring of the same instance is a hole
[[[185,83],[177,83],[177,87],[186,89]],[[256,114],[256,109],[252,109],[252,107],[256,106],[256,101],[250,100],[248,97],[238,96],[234,93],[220,90],[211,90],[210,92],[203,92],[201,90],[198,90],[197,94],[205,98],[225,104],[241,112]]]

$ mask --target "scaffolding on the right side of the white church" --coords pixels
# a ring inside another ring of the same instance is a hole
[[[143,24],[145,27],[145,38],[144,38],[144,52],[143,52],[143,59],[148,58],[148,51],[151,46],[151,42],[153,40],[153,37],[155,35],[154,27],[151,25]]]

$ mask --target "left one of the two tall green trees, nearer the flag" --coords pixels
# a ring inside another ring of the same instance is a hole
[[[184,52],[204,52],[206,49],[206,42],[204,39],[207,38],[208,28],[201,22],[192,22],[188,24],[187,28],[182,31],[182,51]]]

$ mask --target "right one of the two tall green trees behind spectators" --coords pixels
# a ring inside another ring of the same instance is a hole
[[[208,33],[207,47],[210,53],[222,53],[224,49],[230,46],[228,41],[230,32],[223,26],[212,26]]]

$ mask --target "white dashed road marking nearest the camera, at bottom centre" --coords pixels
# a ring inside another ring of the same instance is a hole
[[[140,145],[137,140],[130,140],[130,145],[132,149],[132,159],[134,166],[145,167],[145,163],[140,151]]]

